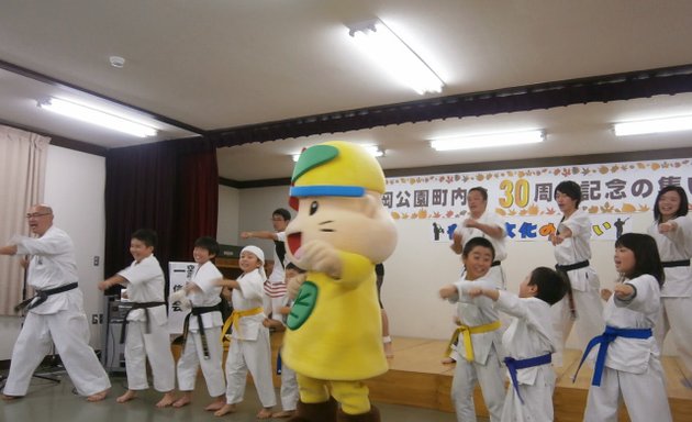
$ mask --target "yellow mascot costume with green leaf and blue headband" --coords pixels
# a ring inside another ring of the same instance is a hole
[[[287,253],[308,273],[281,352],[300,390],[290,421],[380,420],[364,380],[388,370],[375,264],[394,251],[397,230],[382,193],[382,168],[358,145],[325,142],[295,164]]]

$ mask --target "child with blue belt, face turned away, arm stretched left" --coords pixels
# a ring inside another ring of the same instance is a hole
[[[520,285],[518,297],[487,288],[472,288],[468,292],[470,297],[482,295],[492,299],[501,311],[514,316],[502,335],[512,380],[504,399],[502,421],[554,420],[556,377],[550,362],[557,341],[550,307],[565,297],[568,288],[567,279],[555,270],[538,267]]]

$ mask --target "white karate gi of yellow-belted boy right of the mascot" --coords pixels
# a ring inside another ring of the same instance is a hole
[[[473,287],[496,289],[495,281],[479,278],[473,281],[460,280],[454,285],[459,295],[449,298],[449,301],[458,302],[457,316],[462,324],[478,326],[499,320],[500,315],[491,299],[485,297],[470,298],[465,295],[465,291]],[[504,358],[502,330],[471,334],[471,344],[473,346],[473,360],[468,362],[464,336],[459,335],[457,367],[451,381],[451,402],[456,410],[457,420],[476,421],[473,388],[478,381],[483,392],[485,407],[490,412],[491,422],[500,421],[504,403],[504,373],[501,366],[501,360]]]

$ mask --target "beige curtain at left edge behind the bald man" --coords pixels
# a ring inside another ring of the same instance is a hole
[[[43,201],[49,137],[0,125],[0,244],[29,235],[26,210]],[[14,315],[24,270],[18,257],[0,255],[0,315]]]

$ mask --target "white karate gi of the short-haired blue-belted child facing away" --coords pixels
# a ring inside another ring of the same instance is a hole
[[[498,309],[515,316],[502,335],[502,345],[515,359],[526,359],[555,352],[550,304],[537,298],[520,299],[515,295],[500,291]],[[502,409],[502,421],[550,422],[553,413],[553,391],[555,370],[546,364],[516,371],[520,400],[510,382]]]

